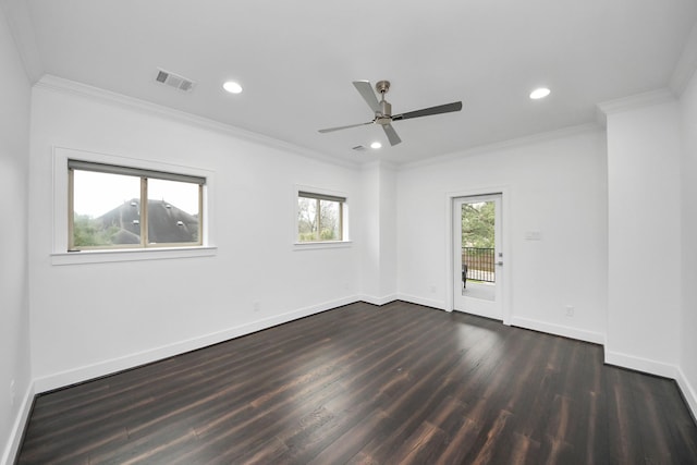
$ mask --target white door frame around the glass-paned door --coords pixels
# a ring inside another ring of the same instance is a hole
[[[476,197],[482,195],[501,195],[501,253],[503,254],[503,267],[501,267],[502,272],[502,302],[501,302],[501,311],[503,323],[506,326],[511,325],[511,266],[513,260],[511,259],[511,191],[508,185],[493,185],[487,187],[477,187],[477,188],[468,188],[463,191],[449,192],[445,194],[445,292],[447,292],[447,301],[445,301],[445,311],[453,311],[454,301],[455,301],[455,289],[454,289],[454,268],[455,268],[455,236],[454,236],[454,224],[453,224],[453,205],[456,198],[460,197]]]

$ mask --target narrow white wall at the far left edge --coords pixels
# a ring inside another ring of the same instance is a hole
[[[27,293],[29,82],[0,9],[0,463],[14,455],[30,392]],[[11,382],[14,400],[11,403]]]

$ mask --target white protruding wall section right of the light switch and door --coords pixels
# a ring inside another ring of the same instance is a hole
[[[680,126],[675,101],[608,114],[606,360],[669,377],[681,314]]]

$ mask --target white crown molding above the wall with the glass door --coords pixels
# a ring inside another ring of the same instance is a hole
[[[431,164],[441,164],[449,161],[458,160],[461,158],[470,157],[473,155],[489,154],[515,147],[522,147],[534,144],[541,144],[548,140],[555,140],[565,137],[572,137],[579,134],[601,131],[602,127],[597,123],[577,124],[574,126],[562,127],[554,131],[546,131],[529,136],[516,137],[509,140],[502,140],[493,144],[481,145],[461,151],[441,155],[439,157],[429,158],[427,160],[417,160],[409,163],[398,166],[400,171],[413,170],[417,168],[428,167]]]

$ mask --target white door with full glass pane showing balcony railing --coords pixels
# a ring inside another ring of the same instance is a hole
[[[501,227],[501,194],[453,199],[453,309],[503,319]]]

